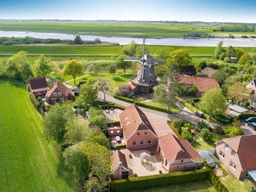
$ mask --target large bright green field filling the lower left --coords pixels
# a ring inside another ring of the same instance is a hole
[[[0,79],[0,191],[75,191],[24,85]]]

